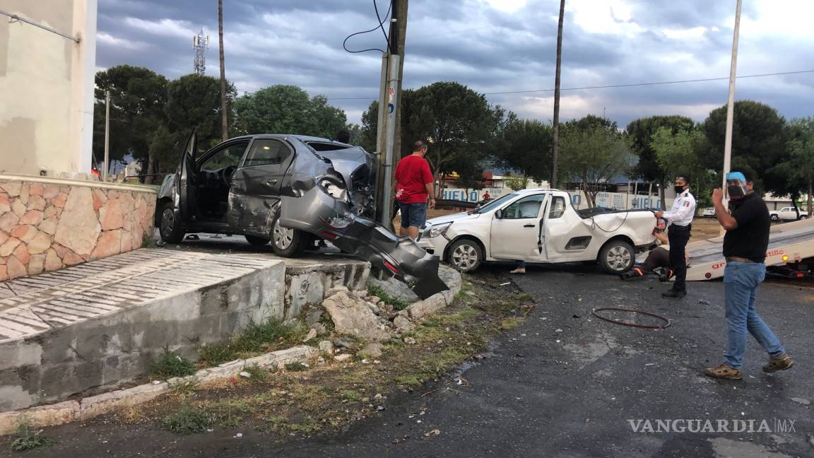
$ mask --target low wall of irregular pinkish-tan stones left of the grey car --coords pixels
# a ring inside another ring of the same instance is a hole
[[[0,281],[141,248],[149,187],[0,175]]]

